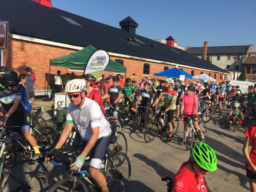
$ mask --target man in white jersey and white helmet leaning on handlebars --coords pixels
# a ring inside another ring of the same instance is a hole
[[[83,79],[73,79],[66,84],[65,91],[71,103],[67,108],[66,125],[54,150],[58,150],[65,143],[75,123],[81,138],[87,143],[81,154],[76,157],[76,162],[70,166],[71,170],[80,171],[85,157],[91,151],[90,175],[103,192],[108,192],[100,168],[110,143],[111,128],[98,103],[85,97],[86,84],[87,81]]]

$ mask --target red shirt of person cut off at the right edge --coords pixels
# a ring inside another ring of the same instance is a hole
[[[253,163],[253,165],[256,166],[256,124],[254,125],[250,125],[246,131],[244,132],[244,134],[250,138],[250,140],[252,141],[252,148],[249,154],[250,160]],[[250,166],[248,165],[248,163],[245,163],[245,167],[247,169],[250,169]],[[251,170],[251,169],[250,169]]]

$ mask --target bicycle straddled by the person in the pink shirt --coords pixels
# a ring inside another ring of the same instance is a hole
[[[184,144],[186,146],[187,150],[190,150],[190,148],[193,145],[193,140],[199,140],[201,141],[201,135],[198,133],[198,130],[195,129],[194,124],[192,122],[191,117],[192,116],[181,116],[181,118],[183,117],[187,117],[188,118],[188,124],[185,127],[184,133],[183,133],[183,139],[184,139]],[[180,119],[181,119],[180,118]],[[182,121],[182,119],[181,119]],[[199,121],[198,122],[198,126],[201,128],[201,131],[203,132],[204,135],[204,142],[207,139],[207,128],[206,128],[206,124],[204,123],[204,121]]]

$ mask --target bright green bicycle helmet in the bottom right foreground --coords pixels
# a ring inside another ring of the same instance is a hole
[[[203,169],[214,172],[217,169],[217,158],[213,149],[203,143],[195,143],[190,149],[190,156]]]

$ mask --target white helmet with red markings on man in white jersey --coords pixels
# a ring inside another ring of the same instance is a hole
[[[65,91],[67,93],[77,93],[82,92],[86,89],[87,81],[84,79],[73,79],[67,82]]]

